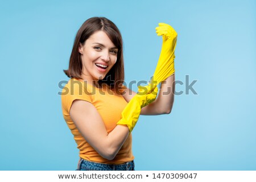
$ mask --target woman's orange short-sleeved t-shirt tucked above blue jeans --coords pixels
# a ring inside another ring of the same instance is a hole
[[[72,102],[75,100],[84,100],[92,103],[98,110],[98,113],[100,113],[106,131],[110,133],[115,126],[117,126],[117,122],[121,119],[121,113],[127,105],[123,96],[114,93],[106,85],[102,86],[102,88],[96,88],[90,84],[86,84],[86,82],[71,78],[62,90],[61,104],[64,119],[71,133],[74,135],[77,148],[80,150],[80,158],[106,164],[122,164],[133,160],[131,134],[127,137],[125,143],[123,143],[123,146],[113,160],[102,158],[102,156],[86,142],[69,115]]]

